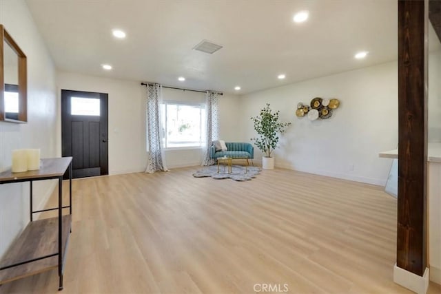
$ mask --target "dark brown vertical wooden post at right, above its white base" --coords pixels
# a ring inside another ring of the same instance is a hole
[[[420,276],[427,264],[427,6],[398,1],[397,266]]]

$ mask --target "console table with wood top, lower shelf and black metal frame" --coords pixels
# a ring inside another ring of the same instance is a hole
[[[63,175],[69,169],[69,205],[63,207]],[[58,179],[58,207],[32,210],[32,182]],[[37,171],[0,173],[0,184],[30,182],[30,222],[0,261],[0,285],[58,267],[59,291],[63,289],[65,253],[72,224],[72,157],[41,160]],[[63,216],[63,209],[69,214]],[[55,218],[34,220],[33,214],[58,210]]]

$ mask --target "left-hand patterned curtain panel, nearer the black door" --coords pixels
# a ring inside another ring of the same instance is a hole
[[[161,134],[161,102],[162,87],[158,84],[147,85],[147,147],[148,160],[146,173],[168,171],[165,166],[165,156]]]

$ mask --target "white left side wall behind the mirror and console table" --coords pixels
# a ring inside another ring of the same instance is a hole
[[[0,122],[0,171],[11,166],[12,149],[41,148],[41,157],[59,156],[56,143],[54,64],[23,0],[0,1],[3,24],[28,57],[28,123]],[[34,209],[44,206],[54,181],[35,182]],[[29,221],[29,185],[0,185],[0,256]]]

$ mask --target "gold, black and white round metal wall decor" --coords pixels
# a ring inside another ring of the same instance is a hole
[[[332,116],[334,109],[340,106],[340,101],[337,98],[326,99],[316,97],[311,100],[309,105],[298,103],[296,116],[301,118],[307,116],[309,120],[316,120],[317,118],[327,119]]]

